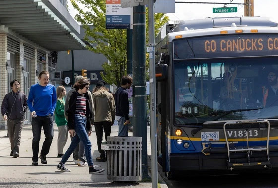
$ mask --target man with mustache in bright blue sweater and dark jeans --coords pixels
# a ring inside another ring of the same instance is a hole
[[[56,106],[55,87],[49,82],[49,72],[42,71],[39,74],[39,83],[30,88],[27,100],[28,107],[32,115],[32,165],[38,166],[39,143],[41,138],[42,127],[44,129],[45,141],[40,154],[42,164],[47,164],[46,155],[53,139],[53,122],[52,116]]]

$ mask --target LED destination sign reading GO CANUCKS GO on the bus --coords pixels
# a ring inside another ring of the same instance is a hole
[[[175,59],[278,55],[278,35],[223,35],[174,41]]]

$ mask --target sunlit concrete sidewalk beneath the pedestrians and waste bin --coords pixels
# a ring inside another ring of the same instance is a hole
[[[72,162],[72,156],[66,163],[66,167],[71,170],[70,173],[64,173],[58,171],[56,166],[61,158],[57,158],[57,136],[58,130],[56,124],[54,124],[54,138],[50,147],[50,152],[47,157],[47,165],[41,164],[39,159],[39,166],[31,166],[32,163],[32,126],[24,126],[21,133],[20,144],[20,157],[13,158],[10,154],[10,142],[6,137],[7,130],[0,130],[0,187],[1,188],[50,188],[61,186],[62,188],[110,188],[119,187],[125,188],[134,186],[136,188],[151,188],[151,182],[139,182],[139,184],[133,183],[113,183],[106,178],[106,171],[100,174],[89,174],[88,167],[78,167]],[[111,136],[117,136],[118,126],[111,127]],[[132,133],[129,133],[132,136]],[[40,150],[42,143],[45,139],[43,131],[41,133]],[[93,162],[95,165],[99,164],[102,168],[106,169],[106,162],[96,162],[96,157],[99,156],[96,144],[96,135],[93,126],[93,133],[90,136],[92,142]],[[104,139],[105,140],[105,139]],[[68,142],[64,148],[64,152],[70,145],[70,136]],[[148,126],[148,168],[150,172],[150,138],[149,138],[149,126]],[[166,184],[159,177],[159,186],[167,188]]]

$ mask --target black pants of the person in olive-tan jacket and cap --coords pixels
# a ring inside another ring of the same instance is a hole
[[[101,122],[95,122],[94,124],[95,124],[98,152],[100,153],[100,158],[104,158],[105,157],[105,152],[104,152],[104,150],[101,149],[103,130],[104,130],[104,133],[105,133],[105,141],[107,141],[107,137],[109,137],[110,133],[111,133],[111,126],[112,126],[111,124],[112,124],[112,122],[101,121]]]

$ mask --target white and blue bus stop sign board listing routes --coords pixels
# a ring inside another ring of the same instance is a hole
[[[132,8],[122,8],[121,0],[106,0],[106,29],[132,29]]]

